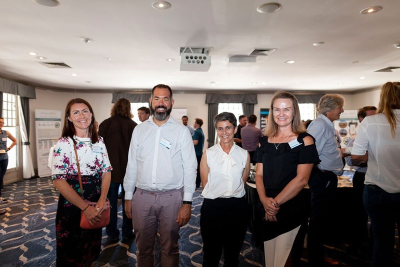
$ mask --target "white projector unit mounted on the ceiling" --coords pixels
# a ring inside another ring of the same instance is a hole
[[[211,56],[208,48],[180,47],[181,71],[208,71],[211,65]]]

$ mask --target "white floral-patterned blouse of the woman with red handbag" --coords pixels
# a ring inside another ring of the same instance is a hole
[[[108,159],[104,141],[98,137],[98,142],[91,143],[89,137],[73,138],[77,141],[76,151],[80,163],[80,174],[101,178],[102,173],[112,169]],[[70,137],[61,137],[53,150],[52,179],[68,179],[70,175],[77,175],[77,166],[73,141]]]

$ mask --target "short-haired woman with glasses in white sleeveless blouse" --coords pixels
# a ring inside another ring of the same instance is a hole
[[[249,213],[244,184],[250,171],[250,156],[233,142],[236,117],[230,112],[214,116],[219,142],[205,150],[200,162],[200,230],[203,267],[218,266],[223,249],[224,266],[237,266],[246,234]]]

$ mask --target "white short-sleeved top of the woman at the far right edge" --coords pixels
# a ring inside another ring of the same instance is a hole
[[[384,113],[365,117],[358,125],[352,155],[368,151],[365,184],[375,184],[389,193],[400,192],[400,109],[393,110],[397,117],[394,138]]]

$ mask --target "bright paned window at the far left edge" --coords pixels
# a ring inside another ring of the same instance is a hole
[[[12,134],[17,138],[17,120],[16,120],[16,95],[3,92],[3,118],[4,126],[3,129]],[[7,138],[7,146],[9,146],[11,140]],[[8,166],[14,168],[17,166],[17,145],[18,143],[7,152],[8,154]]]

